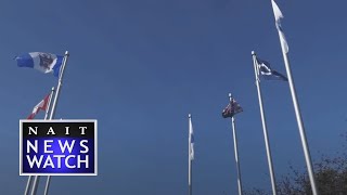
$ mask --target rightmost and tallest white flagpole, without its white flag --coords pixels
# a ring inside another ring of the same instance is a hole
[[[309,147],[307,144],[306,132],[305,132],[305,127],[304,127],[304,122],[303,122],[303,118],[301,118],[299,103],[296,98],[296,90],[295,90],[294,79],[292,77],[290,60],[288,60],[287,53],[285,52],[285,48],[284,48],[285,46],[281,41],[281,32],[280,31],[279,31],[279,37],[280,37],[280,42],[281,42],[283,60],[284,60],[284,64],[285,64],[285,70],[286,70],[286,74],[288,77],[290,89],[291,89],[292,100],[293,100],[293,104],[294,104],[296,121],[297,121],[297,126],[299,128],[301,144],[303,144],[304,154],[305,154],[306,166],[307,166],[307,170],[308,170],[308,174],[309,174],[309,179],[310,179],[310,183],[311,183],[311,188],[312,188],[313,195],[318,195],[316,180],[314,180],[314,176],[313,176],[314,172],[313,172],[312,161],[311,161],[311,157],[310,157]]]

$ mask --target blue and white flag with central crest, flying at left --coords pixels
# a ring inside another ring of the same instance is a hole
[[[15,57],[17,66],[30,67],[44,74],[53,73],[59,77],[64,56],[43,52],[31,52]]]

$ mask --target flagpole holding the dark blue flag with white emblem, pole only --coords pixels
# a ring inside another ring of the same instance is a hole
[[[275,186],[275,179],[273,173],[273,166],[272,166],[272,156],[270,151],[270,142],[268,136],[268,128],[262,106],[262,95],[261,95],[261,88],[260,88],[260,79],[259,79],[259,67],[257,66],[257,58],[256,53],[252,51],[252,57],[253,57],[253,65],[254,65],[254,73],[256,76],[256,86],[258,91],[258,99],[259,99],[259,107],[260,107],[260,116],[261,116],[261,123],[262,123],[262,131],[264,131],[264,140],[265,140],[265,146],[267,150],[267,157],[268,157],[268,165],[269,165],[269,171],[270,171],[270,179],[271,179],[271,186],[272,186],[272,194],[277,195],[277,186]]]

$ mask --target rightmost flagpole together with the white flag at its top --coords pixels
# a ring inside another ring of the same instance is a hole
[[[275,26],[277,26],[278,32],[279,32],[283,60],[284,60],[284,64],[285,64],[285,70],[286,70],[286,74],[288,77],[290,89],[291,89],[292,100],[293,100],[293,104],[294,104],[296,121],[297,121],[297,126],[299,128],[299,133],[300,133],[301,144],[303,144],[303,148],[304,148],[304,155],[305,155],[306,166],[307,166],[307,170],[308,170],[308,176],[310,179],[312,193],[313,193],[313,195],[318,195],[312,161],[311,161],[310,152],[309,152],[309,147],[308,147],[307,139],[306,139],[305,127],[304,127],[304,122],[303,122],[303,118],[301,118],[299,103],[296,98],[294,79],[292,77],[291,64],[290,64],[290,60],[288,60],[288,55],[287,55],[287,52],[288,52],[287,44],[286,44],[286,41],[283,41],[284,34],[279,26],[280,25],[279,20],[282,18],[283,15],[281,13],[281,10],[279,9],[279,6],[275,4],[275,2],[273,0],[271,0],[271,3],[272,3],[273,13],[274,13]]]

